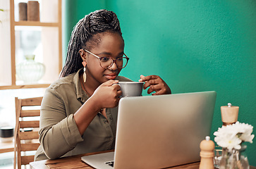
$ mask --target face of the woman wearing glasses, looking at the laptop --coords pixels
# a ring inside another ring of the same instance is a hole
[[[122,37],[118,33],[103,33],[100,35],[101,41],[94,48],[90,49],[92,54],[99,57],[118,58],[123,56],[124,43]],[[92,56],[86,52],[87,62],[87,80],[97,86],[108,80],[114,80],[120,73],[121,68],[116,67],[116,63],[110,68],[105,69],[100,65],[99,58]]]

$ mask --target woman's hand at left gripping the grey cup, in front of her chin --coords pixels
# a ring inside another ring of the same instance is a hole
[[[114,108],[118,106],[121,94],[118,80],[108,80],[97,87],[91,99],[99,108]]]

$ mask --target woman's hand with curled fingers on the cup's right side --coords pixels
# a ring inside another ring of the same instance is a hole
[[[144,89],[150,87],[147,90],[147,94],[150,94],[152,92],[155,92],[152,93],[152,95],[171,94],[171,89],[169,88],[169,86],[158,75],[140,75],[139,82],[145,82],[145,84],[143,85]]]

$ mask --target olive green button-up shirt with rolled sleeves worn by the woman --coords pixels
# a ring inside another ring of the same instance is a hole
[[[62,77],[51,84],[42,99],[39,142],[35,161],[114,149],[118,107],[106,108],[106,117],[97,113],[83,136],[73,114],[89,96],[83,91],[79,74]],[[116,80],[131,81],[118,76]]]

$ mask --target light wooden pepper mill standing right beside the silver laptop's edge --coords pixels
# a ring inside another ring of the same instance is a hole
[[[200,143],[201,161],[199,169],[214,169],[214,148],[215,144],[209,136],[202,140]]]

